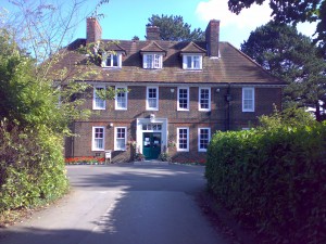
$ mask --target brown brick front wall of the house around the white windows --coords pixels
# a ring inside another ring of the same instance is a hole
[[[114,100],[106,101],[106,110],[98,111],[88,121],[76,121],[74,132],[79,134],[72,140],[66,140],[66,156],[95,156],[104,152],[91,151],[92,127],[105,127],[105,146],[106,150],[114,149],[114,127],[127,127],[127,140],[136,139],[136,119],[147,118],[150,114],[155,114],[156,118],[168,119],[168,138],[176,141],[178,127],[189,127],[189,152],[176,152],[176,149],[168,149],[174,162],[202,160],[205,153],[198,152],[198,128],[209,127],[211,133],[216,130],[226,130],[227,115],[229,107],[230,125],[233,130],[247,128],[250,125],[256,125],[258,116],[271,114],[273,104],[280,107],[281,89],[280,88],[255,88],[255,112],[243,113],[241,105],[242,88],[234,87],[230,89],[231,102],[225,101],[227,93],[226,87],[211,89],[211,112],[198,111],[198,87],[190,88],[190,111],[177,111],[177,87],[159,88],[159,111],[146,111],[146,87],[128,87],[128,110],[115,111]],[[174,89],[172,92],[171,89]],[[87,99],[84,107],[92,108],[92,99]],[[113,128],[109,125],[113,123]],[[126,152],[113,152],[113,162],[133,160],[134,153],[130,149]]]

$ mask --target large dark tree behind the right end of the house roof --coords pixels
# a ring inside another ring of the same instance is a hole
[[[241,50],[274,76],[284,79],[284,102],[315,107],[321,120],[321,102],[326,102],[326,64],[309,37],[293,26],[269,22],[250,34]]]

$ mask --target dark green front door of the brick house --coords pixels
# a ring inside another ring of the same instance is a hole
[[[156,159],[161,153],[161,132],[143,132],[142,154],[146,159]]]

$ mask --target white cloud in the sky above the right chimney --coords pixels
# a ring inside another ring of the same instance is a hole
[[[228,10],[227,0],[201,1],[197,5],[196,14],[200,21],[220,20],[223,27],[236,27],[254,29],[266,24],[271,20],[272,10],[268,2],[263,5],[253,4],[249,9],[243,9],[239,15]]]

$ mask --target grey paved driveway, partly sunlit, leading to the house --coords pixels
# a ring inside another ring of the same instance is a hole
[[[15,227],[5,244],[226,244],[201,214],[201,166],[68,166],[72,193]]]

